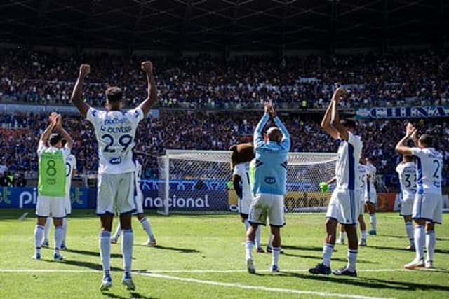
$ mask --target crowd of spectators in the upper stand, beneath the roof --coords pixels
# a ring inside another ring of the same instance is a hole
[[[154,57],[161,107],[322,108],[340,84],[351,106],[434,105],[449,101],[448,50],[307,57]],[[145,57],[147,58],[147,57]],[[0,101],[69,104],[81,62],[91,64],[86,101],[102,106],[109,85],[130,105],[146,95],[141,57],[108,53],[0,50]]]

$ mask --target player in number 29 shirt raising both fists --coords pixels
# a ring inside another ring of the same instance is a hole
[[[83,81],[91,71],[88,64],[81,64],[79,76],[72,92],[72,103],[89,120],[98,141],[98,196],[96,212],[100,216],[100,258],[103,278],[100,291],[107,291],[112,286],[110,275],[111,229],[114,212],[120,214],[123,229],[123,266],[122,284],[128,290],[134,290],[131,277],[133,258],[133,230],[131,213],[135,211],[133,147],[135,130],[140,120],[144,119],[157,99],[156,84],[151,62],[142,62],[142,69],[147,74],[148,96],[137,108],[123,111],[123,93],[118,87],[108,88],[106,94],[107,111],[93,109],[81,99]]]

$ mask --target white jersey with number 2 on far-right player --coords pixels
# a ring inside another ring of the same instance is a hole
[[[412,153],[417,158],[417,192],[441,194],[443,155],[435,148],[412,148]]]

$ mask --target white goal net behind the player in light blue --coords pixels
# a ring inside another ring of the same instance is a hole
[[[321,193],[319,183],[333,178],[336,158],[335,153],[288,153],[287,212],[326,210],[330,192]],[[166,151],[159,157],[159,213],[238,211],[230,161],[230,151]]]

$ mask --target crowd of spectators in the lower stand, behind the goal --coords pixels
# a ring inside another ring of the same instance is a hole
[[[260,111],[262,113],[262,111]],[[142,160],[145,176],[157,176],[157,157],[166,149],[197,149],[227,151],[235,143],[251,141],[260,113],[203,113],[189,111],[161,111],[159,118],[143,120],[136,134],[135,152]],[[0,171],[15,176],[36,175],[38,170],[36,148],[41,133],[47,125],[48,114],[0,113],[0,120],[25,124],[20,129],[0,130]],[[283,116],[292,139],[290,151],[337,151],[337,144],[319,125],[319,118],[309,116]],[[419,129],[436,137],[436,148],[443,152],[449,170],[449,122],[428,118],[413,120]],[[78,161],[80,174],[94,173],[98,163],[98,146],[93,127],[79,115],[65,115],[64,127],[74,139],[72,153]],[[363,139],[363,155],[373,160],[378,174],[394,174],[400,160],[394,151],[396,142],[403,137],[406,120],[359,121],[357,133]],[[4,127],[11,124],[0,123]]]

